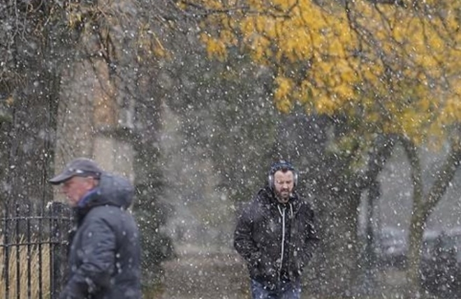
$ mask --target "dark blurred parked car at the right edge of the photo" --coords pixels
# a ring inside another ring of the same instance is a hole
[[[421,246],[421,282],[428,292],[441,298],[461,297],[461,235],[425,232]]]

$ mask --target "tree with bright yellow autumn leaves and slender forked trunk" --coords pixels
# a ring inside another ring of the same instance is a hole
[[[424,224],[461,160],[461,2],[189,0],[210,55],[230,49],[275,73],[274,103],[342,116],[344,138],[399,136],[411,162],[414,206],[407,277],[418,291]],[[451,151],[425,188],[418,146]],[[347,144],[345,142],[344,144]],[[425,192],[424,190],[428,190]]]

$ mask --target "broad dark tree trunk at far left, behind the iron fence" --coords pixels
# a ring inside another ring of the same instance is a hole
[[[52,196],[47,178],[52,174],[60,66],[72,45],[70,31],[61,26],[61,7],[52,2],[15,1],[1,9],[2,21],[11,25],[3,30],[0,46],[0,93],[8,97],[3,108],[9,116],[1,128],[6,142],[2,181],[8,210],[15,213],[28,204],[43,206]]]

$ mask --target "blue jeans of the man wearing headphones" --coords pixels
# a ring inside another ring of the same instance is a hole
[[[277,289],[270,290],[265,288],[260,282],[251,279],[251,298],[252,299],[300,299],[300,282],[282,282]]]

